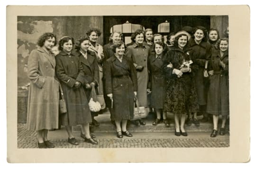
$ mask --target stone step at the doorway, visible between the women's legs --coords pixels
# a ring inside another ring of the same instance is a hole
[[[170,121],[170,127],[165,127],[164,123],[160,123],[156,126],[152,125],[152,122],[155,120],[155,115],[154,114],[149,114],[149,116],[144,119],[146,121],[146,125],[142,126],[140,125],[139,127],[128,123],[128,130],[132,133],[134,132],[174,132],[174,115],[173,113],[167,113],[167,118]],[[198,119],[201,119],[202,116],[199,116]],[[110,113],[104,113],[100,114],[99,116],[95,117],[95,119],[100,123],[99,127],[92,127],[91,131],[93,133],[110,133],[110,132],[115,132],[116,127],[110,122]],[[221,121],[221,120],[220,120]],[[228,125],[226,125],[228,127]],[[196,127],[194,124],[191,126],[185,125],[185,129],[187,132],[211,132],[212,131],[212,122],[206,122],[206,123],[200,123],[199,127]],[[75,126],[73,127],[73,132],[74,133],[80,133],[81,128],[80,126]]]

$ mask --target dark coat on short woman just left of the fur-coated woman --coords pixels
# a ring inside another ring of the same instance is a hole
[[[157,58],[151,55],[148,58],[149,83],[151,90],[150,105],[155,109],[163,109],[165,99],[165,73],[163,69],[163,58]]]

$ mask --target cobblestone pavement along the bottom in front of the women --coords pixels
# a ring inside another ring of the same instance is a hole
[[[112,134],[111,134],[112,135]],[[161,147],[229,147],[229,137],[174,137],[174,138],[99,138],[99,144],[92,145],[77,138],[79,145],[68,144],[66,139],[51,140],[55,148],[161,148]],[[37,134],[28,131],[25,124],[18,124],[18,148],[37,148]]]

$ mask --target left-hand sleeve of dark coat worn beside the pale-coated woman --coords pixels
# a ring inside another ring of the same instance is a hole
[[[73,85],[75,84],[75,79],[73,79],[70,76],[67,76],[64,70],[64,65],[63,65],[63,60],[61,59],[61,55],[57,55],[55,56],[56,59],[56,76],[57,78],[64,82],[65,84],[67,84],[69,87],[73,87]]]

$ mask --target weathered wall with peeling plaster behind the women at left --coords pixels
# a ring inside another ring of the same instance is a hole
[[[46,32],[74,39],[85,35],[87,30],[97,27],[103,32],[103,17],[18,17],[18,86],[29,83],[27,78],[27,59],[29,53],[37,48],[37,39]],[[103,42],[103,34],[99,38]]]

